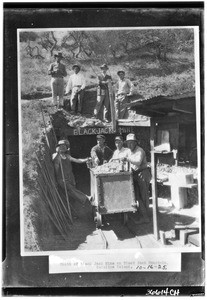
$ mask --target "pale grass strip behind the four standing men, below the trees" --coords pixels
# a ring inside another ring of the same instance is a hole
[[[118,80],[117,71],[124,69],[126,76],[135,84],[135,92],[144,98],[159,94],[179,94],[194,89],[194,65],[192,55],[173,54],[169,60],[161,61],[150,53],[144,56],[137,55],[132,60],[120,60],[118,63],[109,64],[109,73],[113,81]],[[51,95],[50,79],[47,74],[51,59],[30,58],[21,51],[21,95],[22,99],[37,99]],[[87,80],[87,86],[97,84],[97,74],[100,72],[100,59],[79,61],[82,72]],[[63,61],[66,65],[68,76],[73,73],[71,67],[75,61]]]

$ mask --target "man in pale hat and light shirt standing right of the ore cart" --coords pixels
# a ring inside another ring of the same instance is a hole
[[[138,146],[138,141],[134,133],[127,135],[126,142],[129,148],[126,160],[130,163],[130,168],[133,172],[135,195],[139,201],[139,208],[142,214],[139,222],[149,222],[149,184],[151,174],[147,167],[146,154]]]

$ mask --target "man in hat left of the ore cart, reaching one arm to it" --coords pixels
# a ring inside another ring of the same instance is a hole
[[[56,145],[56,153],[52,156],[57,183],[62,189],[64,189],[66,185],[69,198],[71,197],[74,200],[78,200],[82,204],[85,204],[86,201],[90,201],[91,203],[92,197],[87,196],[76,188],[71,165],[71,162],[79,164],[86,163],[88,158],[81,159],[72,157],[70,154],[68,154],[69,146],[69,141],[60,140]]]

